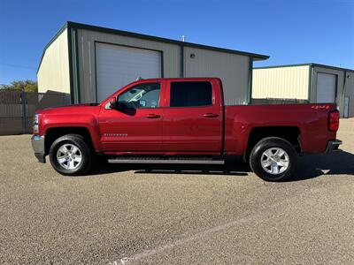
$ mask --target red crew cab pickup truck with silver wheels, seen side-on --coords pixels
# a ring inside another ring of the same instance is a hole
[[[63,175],[109,163],[222,164],[242,156],[258,177],[289,178],[297,155],[330,153],[335,103],[225,106],[218,78],[142,79],[98,104],[40,110],[32,145]]]

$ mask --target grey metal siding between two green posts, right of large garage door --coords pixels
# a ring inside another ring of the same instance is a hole
[[[191,54],[195,57],[191,58]],[[184,64],[185,77],[220,78],[226,105],[248,102],[249,57],[185,47]]]

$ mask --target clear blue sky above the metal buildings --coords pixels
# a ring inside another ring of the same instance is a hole
[[[36,79],[67,20],[354,69],[354,0],[0,0],[0,84]]]

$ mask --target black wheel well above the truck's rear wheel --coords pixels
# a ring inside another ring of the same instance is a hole
[[[300,146],[300,129],[296,126],[269,126],[269,127],[256,127],[251,129],[249,140],[247,143],[246,155],[250,152],[259,140],[266,137],[279,137],[288,140],[289,143],[296,149],[297,153],[301,152]]]

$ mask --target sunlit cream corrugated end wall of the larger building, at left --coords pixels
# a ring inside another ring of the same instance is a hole
[[[39,92],[57,91],[70,94],[67,29],[46,49],[37,79]]]

